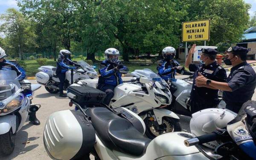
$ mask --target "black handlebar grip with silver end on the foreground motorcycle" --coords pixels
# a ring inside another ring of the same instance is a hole
[[[188,140],[184,140],[184,144],[189,147],[189,146],[193,146],[193,145],[201,145],[207,142],[211,142],[214,140],[217,140],[218,138],[218,134],[215,132],[212,132],[210,134],[205,134],[199,137],[195,137],[195,138],[191,138]]]

